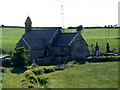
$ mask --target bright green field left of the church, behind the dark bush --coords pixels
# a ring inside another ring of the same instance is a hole
[[[14,50],[16,43],[24,34],[22,28],[3,28],[2,29],[2,48],[9,52]]]

